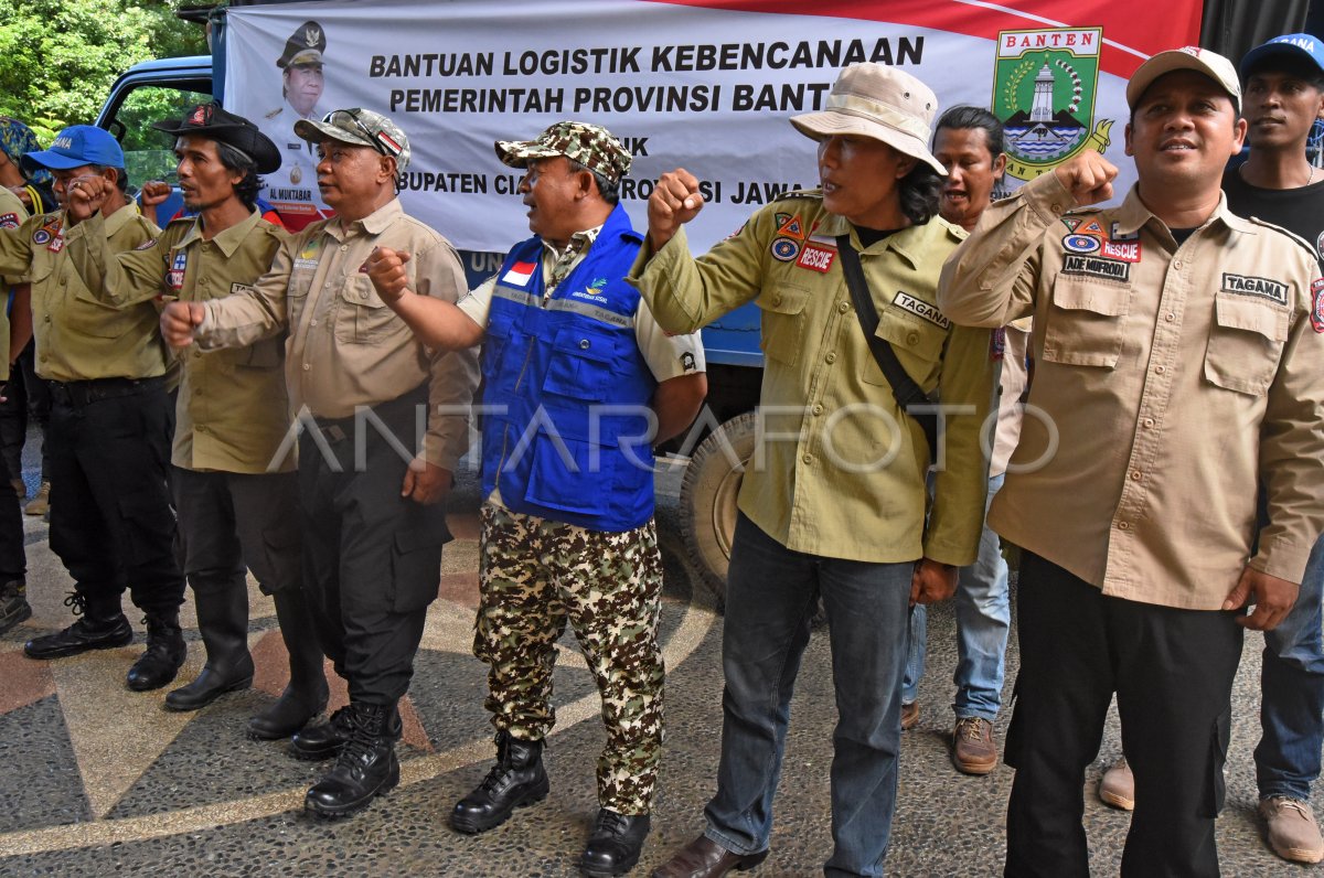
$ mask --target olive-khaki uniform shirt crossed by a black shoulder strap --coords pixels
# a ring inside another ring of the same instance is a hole
[[[927,531],[924,433],[896,405],[851,307],[834,244],[843,233],[859,250],[878,335],[944,405],[969,407],[948,417]],[[692,332],[749,301],[763,313],[764,436],[739,506],[786,548],[871,563],[974,560],[988,490],[980,426],[993,397],[990,334],[953,327],[933,305],[939,268],[963,236],[935,217],[866,249],[810,192],[759,211],[698,260],[683,229],[659,252],[641,250],[629,279],[662,328]]]

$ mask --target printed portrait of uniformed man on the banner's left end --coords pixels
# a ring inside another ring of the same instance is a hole
[[[266,180],[263,197],[281,213],[287,228],[302,229],[308,222],[328,216],[318,195],[316,156],[312,146],[294,134],[299,119],[312,119],[326,78],[323,53],[326,29],[316,21],[305,21],[275,60],[281,68],[281,106],[260,119],[262,131],[281,152],[281,171]]]

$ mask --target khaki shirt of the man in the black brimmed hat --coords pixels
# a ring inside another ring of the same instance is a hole
[[[248,289],[287,237],[253,212],[208,241],[201,221],[189,217],[167,225],[154,244],[117,256],[97,215],[70,230],[66,246],[87,286],[103,302],[127,307],[167,297],[204,302]],[[290,430],[283,339],[207,352],[193,346],[180,356],[171,462],[225,473],[293,470],[294,454],[281,448]]]

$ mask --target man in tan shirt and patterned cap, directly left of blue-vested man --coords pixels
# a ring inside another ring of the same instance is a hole
[[[301,759],[336,757],[305,800],[334,817],[400,781],[397,705],[441,584],[450,538],[441,501],[467,448],[458,412],[467,412],[478,371],[473,352],[425,347],[365,273],[373,249],[391,248],[410,254],[413,293],[454,302],[465,291],[454,248],[396,197],[409,164],[405,132],[357,107],[295,131],[316,144],[318,185],[336,217],[285,241],[252,286],[171,302],[162,328],[173,347],[196,340],[200,351],[289,334],[286,391],[303,426],[303,587],[319,642],[350,687],[347,707],[290,746]]]

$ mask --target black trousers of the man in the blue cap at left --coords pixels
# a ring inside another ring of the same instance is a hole
[[[94,613],[118,612],[126,587],[144,613],[184,600],[167,487],[172,429],[160,379],[52,384],[50,548]]]

